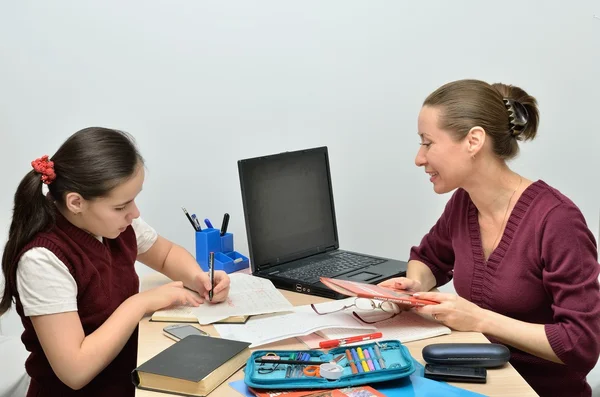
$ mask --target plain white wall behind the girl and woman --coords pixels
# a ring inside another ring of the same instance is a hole
[[[247,252],[238,159],[327,145],[342,246],[406,259],[449,197],[413,164],[417,113],[460,78],[538,98],[539,138],[512,165],[598,233],[594,14],[592,0],[0,1],[0,240],[29,162],[101,125],[137,138],[143,216],[190,250],[182,205],[229,212]]]

